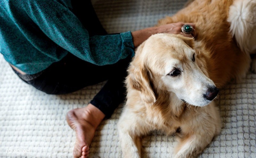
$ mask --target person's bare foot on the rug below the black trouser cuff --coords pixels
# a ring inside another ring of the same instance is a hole
[[[92,104],[68,112],[68,125],[76,132],[76,142],[73,150],[75,158],[87,158],[89,156],[89,146],[95,130],[104,117],[105,115]]]

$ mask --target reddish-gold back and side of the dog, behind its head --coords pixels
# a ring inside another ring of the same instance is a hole
[[[249,54],[242,53],[230,33],[227,21],[233,0],[194,0],[159,25],[172,22],[195,23],[197,62],[218,87],[244,77],[250,67]]]

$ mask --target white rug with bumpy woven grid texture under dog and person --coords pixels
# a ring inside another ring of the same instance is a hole
[[[183,7],[184,0],[93,0],[108,33],[153,26]],[[65,120],[73,108],[84,107],[104,83],[68,95],[47,95],[23,83],[0,55],[0,158],[71,158],[75,133]],[[199,157],[256,157],[256,75],[220,91],[223,128]],[[120,105],[101,123],[91,145],[93,158],[119,158],[116,123]],[[172,157],[173,136],[152,132],[143,141],[144,156]],[[127,149],[129,150],[129,149]]]

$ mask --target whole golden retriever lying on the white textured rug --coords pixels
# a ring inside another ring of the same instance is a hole
[[[195,40],[156,34],[138,47],[128,69],[127,101],[118,122],[123,157],[140,157],[140,138],[152,130],[176,131],[179,143],[174,151],[180,158],[200,154],[219,134],[220,114],[211,101],[218,93],[216,87],[243,77],[250,66],[249,53],[255,51],[255,42],[251,44],[248,35],[236,34],[236,27],[232,27],[232,23],[239,25],[239,15],[232,18],[232,7],[245,2],[250,5],[255,1],[190,1],[159,25],[195,23]],[[248,14],[252,10],[245,7],[241,12],[246,9]],[[244,29],[253,33],[255,25],[246,22]]]

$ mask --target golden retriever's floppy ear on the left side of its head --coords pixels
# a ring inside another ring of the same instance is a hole
[[[144,43],[143,43],[144,45]],[[142,51],[143,45],[140,45],[135,54]],[[138,55],[137,54],[137,55]],[[149,106],[156,102],[156,96],[149,80],[149,71],[145,68],[143,61],[132,61],[128,68],[128,76],[126,77],[126,84],[140,91],[141,99]]]

